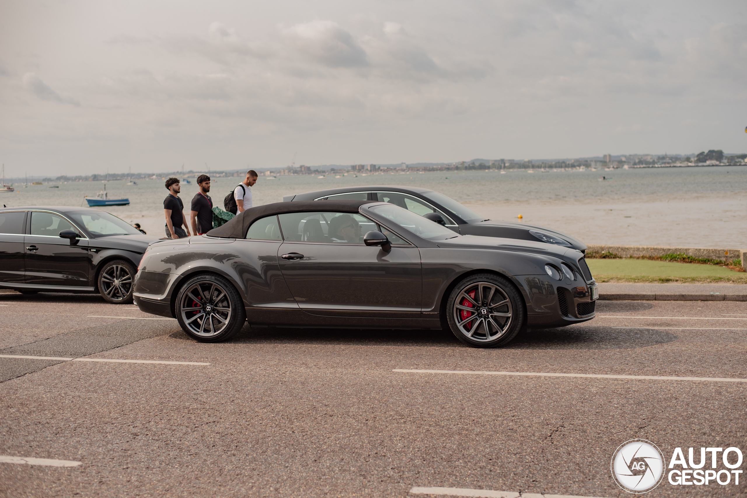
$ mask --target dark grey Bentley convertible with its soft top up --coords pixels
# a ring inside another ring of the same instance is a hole
[[[526,327],[595,316],[583,253],[539,241],[462,236],[384,202],[252,207],[204,236],[149,246],[135,278],[143,312],[197,341],[252,327],[441,329],[474,347]]]

